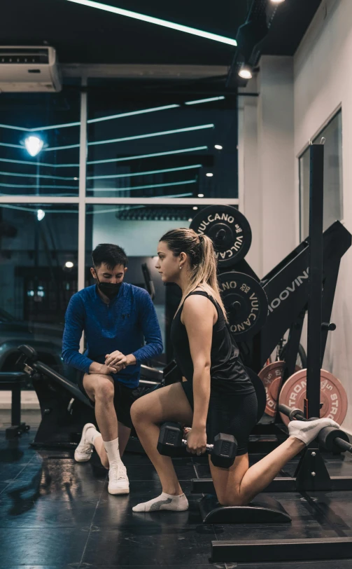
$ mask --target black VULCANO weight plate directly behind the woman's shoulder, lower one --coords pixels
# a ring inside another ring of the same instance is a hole
[[[267,295],[260,283],[244,273],[218,275],[220,293],[235,341],[247,341],[267,319]]]

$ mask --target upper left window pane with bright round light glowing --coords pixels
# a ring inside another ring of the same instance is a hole
[[[0,95],[0,194],[78,196],[80,93]]]

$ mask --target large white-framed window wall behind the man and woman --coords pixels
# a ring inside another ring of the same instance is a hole
[[[168,361],[180,295],[155,270],[157,242],[206,205],[238,205],[235,97],[176,83],[0,93],[0,370],[20,343],[62,366],[64,313],[99,242],[125,248],[127,282],[153,280]]]

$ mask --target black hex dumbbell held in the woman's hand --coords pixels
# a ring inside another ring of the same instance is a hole
[[[164,456],[178,456],[178,451],[187,446],[183,439],[183,428],[179,423],[163,423],[160,429],[157,450]],[[232,434],[220,432],[214,437],[213,444],[206,445],[206,452],[211,455],[211,462],[220,468],[230,468],[237,453],[237,441]]]

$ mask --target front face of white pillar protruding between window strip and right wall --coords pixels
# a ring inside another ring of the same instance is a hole
[[[292,57],[262,57],[259,79],[258,165],[267,274],[295,247]]]

